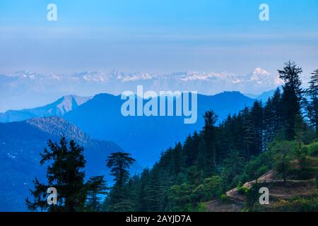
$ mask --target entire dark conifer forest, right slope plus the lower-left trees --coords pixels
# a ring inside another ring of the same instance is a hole
[[[47,184],[35,179],[30,210],[49,211],[204,211],[204,202],[226,201],[226,191],[237,187],[246,194],[245,210],[253,210],[258,190],[242,184],[274,169],[288,179],[316,177],[318,145],[318,70],[309,88],[302,88],[302,69],[287,62],[278,70],[285,82],[266,102],[256,100],[225,121],[212,111],[204,127],[168,148],[151,169],[130,175],[135,161],[129,153],[105,156],[114,184],[103,176],[84,182],[83,148],[61,138],[49,141],[41,155],[48,164]],[[233,100],[235,101],[235,100]],[[176,131],[177,132],[177,131]],[[57,205],[47,204],[47,188],[59,191]],[[317,197],[306,210],[317,210]]]

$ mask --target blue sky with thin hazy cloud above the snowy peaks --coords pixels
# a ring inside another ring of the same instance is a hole
[[[0,73],[276,73],[288,60],[318,68],[318,0],[0,1]]]

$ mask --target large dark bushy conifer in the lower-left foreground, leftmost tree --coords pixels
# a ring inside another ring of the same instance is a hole
[[[86,201],[83,171],[86,160],[83,148],[73,140],[68,143],[64,137],[61,137],[59,144],[49,140],[47,145],[49,150],[45,148],[44,153],[40,154],[40,164],[49,163],[47,184],[42,184],[35,178],[35,189],[31,191],[34,201],[26,199],[28,208],[64,212],[83,210]],[[49,206],[45,199],[49,187],[57,189],[57,206]]]

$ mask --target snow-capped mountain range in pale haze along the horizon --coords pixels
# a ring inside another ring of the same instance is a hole
[[[0,112],[37,107],[69,94],[92,96],[97,93],[118,95],[125,90],[136,92],[136,85],[143,85],[143,90],[155,92],[179,90],[213,95],[225,90],[259,94],[282,84],[278,75],[260,68],[247,75],[195,71],[165,75],[117,70],[110,73],[83,71],[71,74],[18,71],[0,75]]]

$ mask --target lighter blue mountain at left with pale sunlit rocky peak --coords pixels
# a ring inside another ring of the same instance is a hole
[[[92,97],[78,97],[76,95],[66,95],[59,100],[33,109],[8,110],[0,113],[0,122],[23,121],[35,117],[63,116],[67,112],[76,109]]]

